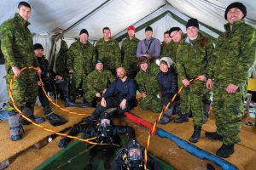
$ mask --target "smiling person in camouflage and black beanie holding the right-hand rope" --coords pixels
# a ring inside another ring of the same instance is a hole
[[[203,123],[201,100],[207,91],[205,88],[206,70],[208,61],[212,58],[213,44],[199,32],[199,24],[196,19],[188,20],[186,28],[188,37],[180,42],[177,48],[177,74],[182,80],[183,86],[189,88],[188,103],[194,122],[194,133],[189,141],[196,143],[201,136]],[[189,79],[194,77],[198,77],[199,80],[190,83]]]

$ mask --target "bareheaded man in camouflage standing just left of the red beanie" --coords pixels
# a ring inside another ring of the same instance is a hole
[[[121,51],[118,42],[111,37],[111,31],[104,27],[103,38],[96,42],[96,59],[104,61],[104,67],[115,75],[115,69],[121,66]]]

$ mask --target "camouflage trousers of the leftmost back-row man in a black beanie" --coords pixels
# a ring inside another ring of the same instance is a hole
[[[87,91],[86,76],[73,74],[73,81],[70,89],[70,95],[73,96],[73,98],[75,98],[79,93],[79,88],[82,88],[82,90],[84,91],[84,94],[86,93]],[[85,96],[83,96],[83,99],[85,99]]]

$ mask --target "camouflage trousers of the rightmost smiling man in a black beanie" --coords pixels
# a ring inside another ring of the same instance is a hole
[[[228,85],[215,81],[213,83],[213,112],[216,116],[217,133],[224,137],[224,144],[240,142],[241,117],[243,114],[243,92],[228,94]]]

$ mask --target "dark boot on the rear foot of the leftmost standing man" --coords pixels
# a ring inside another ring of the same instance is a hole
[[[45,121],[44,117],[34,116],[32,108],[26,107],[22,111],[23,115],[32,120],[32,122],[36,122],[38,124]],[[22,125],[29,125],[31,122],[28,122],[25,118],[21,118]]]

